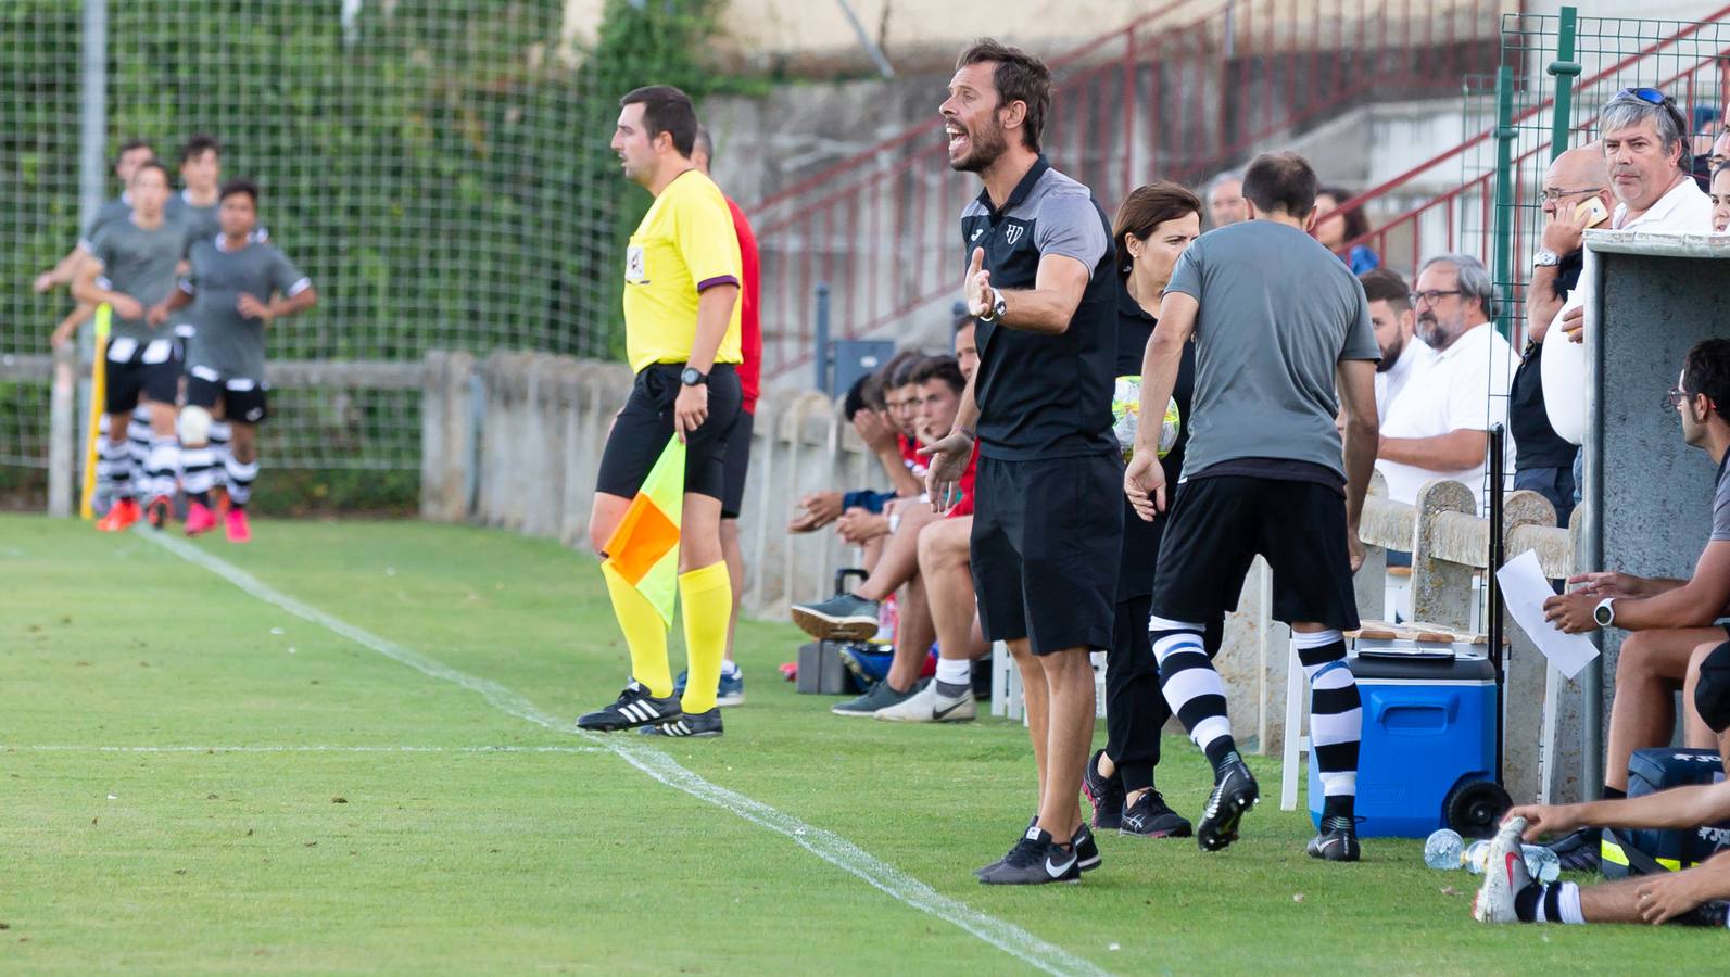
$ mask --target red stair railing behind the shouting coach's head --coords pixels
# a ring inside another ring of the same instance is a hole
[[[1152,178],[1190,182],[1268,137],[1370,99],[1453,95],[1498,57],[1505,0],[1169,0],[1052,59],[1054,166],[1107,209]],[[813,354],[813,292],[836,337],[882,334],[958,294],[962,206],[931,118],[753,208],[770,377]]]

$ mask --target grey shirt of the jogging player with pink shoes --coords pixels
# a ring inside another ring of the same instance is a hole
[[[187,368],[215,370],[223,380],[265,380],[265,322],[240,315],[237,303],[249,294],[263,303],[273,292],[298,296],[311,287],[273,244],[247,244],[228,251],[221,237],[192,246],[192,275],[180,284],[192,296],[189,320],[197,332],[187,351]]]

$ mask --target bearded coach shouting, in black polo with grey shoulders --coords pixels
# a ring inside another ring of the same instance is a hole
[[[969,562],[979,623],[1021,669],[1038,768],[1038,814],[977,873],[995,885],[1074,882],[1099,865],[1081,823],[1088,655],[1111,647],[1123,534],[1123,507],[1107,501],[1123,474],[1111,434],[1111,227],[1092,192],[1040,154],[1050,78],[1036,57],[981,40],[962,52],[941,107],[950,168],[984,183],[962,211],[979,368],[955,429],[926,450],[927,493],[939,510],[958,501],[977,441]]]

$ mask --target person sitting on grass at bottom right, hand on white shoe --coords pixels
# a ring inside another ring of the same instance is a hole
[[[1730,643],[1694,661],[1694,709],[1730,757]],[[1605,828],[1694,830],[1730,820],[1730,782],[1671,787],[1644,797],[1586,804],[1528,804],[1509,811],[1490,844],[1490,868],[1472,899],[1481,923],[1678,923],[1723,927],[1730,916],[1730,851],[1720,851],[1683,872],[1637,875],[1605,885],[1533,882],[1521,842],[1543,835]]]

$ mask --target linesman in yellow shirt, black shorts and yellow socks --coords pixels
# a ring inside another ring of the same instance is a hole
[[[673,697],[661,612],[611,564],[612,610],[631,652],[631,681],[612,704],[578,718],[585,730],[650,726],[668,737],[718,737],[714,693],[727,654],[732,581],[721,557],[727,443],[739,420],[739,235],[727,197],[690,161],[697,112],[678,88],[619,100],[612,150],[625,176],[654,195],[625,256],[625,353],[637,382],[600,457],[588,538],[607,540],[673,436],[685,443],[678,600],[689,683]]]

